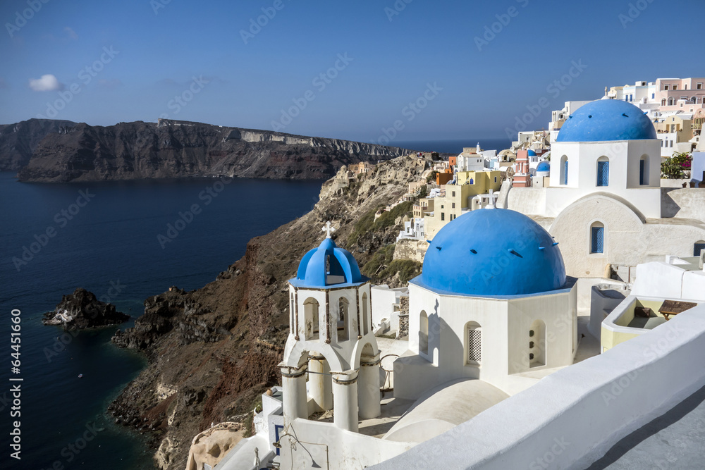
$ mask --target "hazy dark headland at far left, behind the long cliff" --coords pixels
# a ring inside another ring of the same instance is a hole
[[[53,119],[30,119],[0,125],[0,171],[19,170],[30,162],[44,137],[75,125],[70,120]]]

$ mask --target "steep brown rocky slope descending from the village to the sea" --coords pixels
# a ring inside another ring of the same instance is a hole
[[[399,157],[350,186],[341,184],[347,181],[341,171],[323,184],[311,212],[250,240],[245,256],[213,283],[192,292],[172,287],[147,299],[145,315],[114,342],[144,351],[149,366],[110,410],[119,423],[150,433],[160,468],[183,469],[197,433],[211,423],[246,421],[259,395],[281,383],[286,281],[325,236],[324,223],[333,223],[336,242],[360,266],[377,263],[402,224],[400,216],[374,222],[374,213],[399,199],[428,166],[424,159]]]

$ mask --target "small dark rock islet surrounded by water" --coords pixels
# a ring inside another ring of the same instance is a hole
[[[44,314],[44,325],[61,325],[65,330],[82,330],[97,326],[116,325],[128,321],[129,315],[115,311],[113,304],[96,299],[93,292],[78,287],[64,295],[54,311]]]

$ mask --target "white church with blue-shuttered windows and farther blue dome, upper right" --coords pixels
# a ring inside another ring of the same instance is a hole
[[[551,148],[549,187],[509,188],[501,207],[541,218],[570,276],[630,282],[637,264],[690,256],[705,239],[705,192],[661,189],[661,141],[632,104],[593,101]]]

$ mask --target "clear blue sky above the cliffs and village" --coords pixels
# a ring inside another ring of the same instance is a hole
[[[701,0],[4,0],[0,20],[0,123],[496,138],[608,85],[705,75]]]

